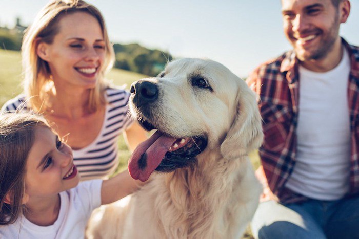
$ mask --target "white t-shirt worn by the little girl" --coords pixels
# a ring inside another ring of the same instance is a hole
[[[38,226],[21,216],[15,223],[0,226],[1,238],[83,239],[91,212],[101,205],[102,180],[81,182],[60,193],[61,206],[53,225]]]

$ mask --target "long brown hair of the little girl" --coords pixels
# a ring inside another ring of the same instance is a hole
[[[25,206],[26,160],[34,143],[35,127],[50,128],[41,116],[30,113],[0,114],[0,225],[10,224]],[[10,195],[10,204],[5,203]]]

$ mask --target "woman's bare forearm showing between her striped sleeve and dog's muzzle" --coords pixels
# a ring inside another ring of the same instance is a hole
[[[143,129],[138,122],[133,122],[132,125],[124,131],[125,141],[130,151],[137,147],[137,145],[148,139],[148,132]]]

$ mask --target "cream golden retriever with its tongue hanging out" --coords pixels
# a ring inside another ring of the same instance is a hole
[[[178,59],[134,82],[129,107],[157,129],[132,154],[130,174],[158,173],[102,206],[88,238],[241,238],[262,191],[248,158],[262,144],[261,116],[245,81],[212,60]]]

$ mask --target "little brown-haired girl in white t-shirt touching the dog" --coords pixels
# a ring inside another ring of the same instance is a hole
[[[0,115],[0,152],[1,238],[84,238],[92,210],[133,192],[128,171],[79,183],[71,148],[36,115]]]

